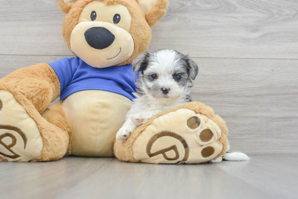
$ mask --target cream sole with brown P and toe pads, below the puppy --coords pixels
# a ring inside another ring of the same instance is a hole
[[[133,144],[133,157],[144,163],[207,162],[222,151],[220,137],[221,130],[211,119],[179,109],[147,126]]]

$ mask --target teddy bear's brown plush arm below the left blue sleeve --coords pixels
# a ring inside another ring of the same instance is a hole
[[[20,68],[0,81],[16,87],[40,113],[60,95],[59,79],[47,63]]]

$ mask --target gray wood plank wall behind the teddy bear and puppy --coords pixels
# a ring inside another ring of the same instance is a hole
[[[227,122],[231,149],[298,153],[298,1],[169,0],[151,50],[189,54],[192,98]],[[0,78],[72,56],[55,0],[0,0]]]

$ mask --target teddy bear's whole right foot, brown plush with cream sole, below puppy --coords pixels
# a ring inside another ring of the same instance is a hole
[[[130,162],[202,163],[226,153],[227,134],[212,108],[190,102],[158,113],[125,142],[116,141],[114,153]]]

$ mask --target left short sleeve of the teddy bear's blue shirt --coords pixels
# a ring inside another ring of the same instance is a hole
[[[62,58],[61,60],[53,61],[48,63],[55,73],[58,76],[61,91],[71,82],[72,77],[75,74],[75,71],[78,69],[79,66],[79,58],[78,57],[71,57],[71,58]]]

